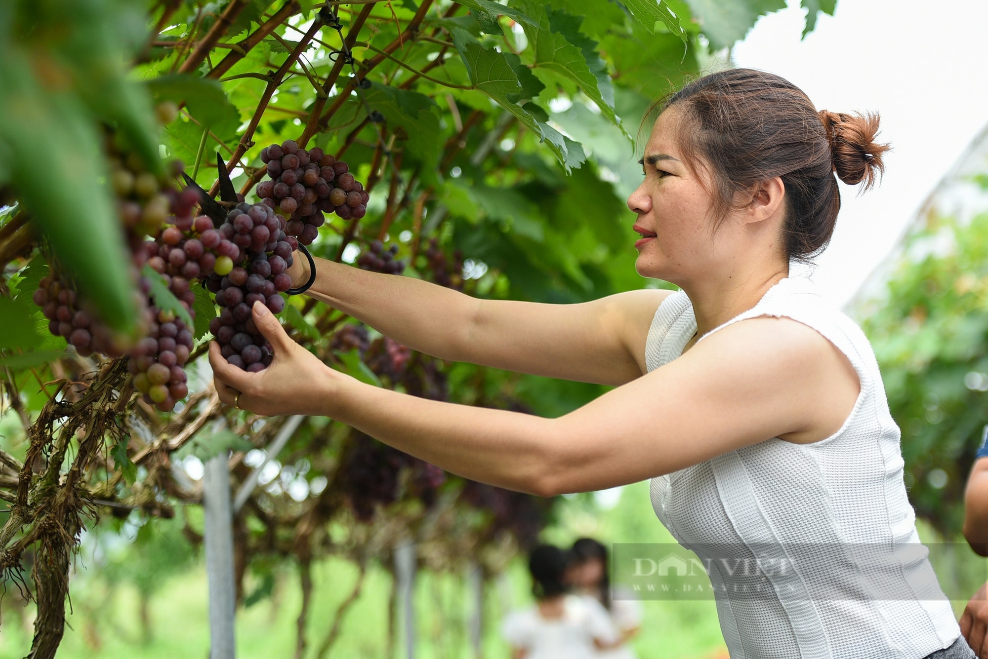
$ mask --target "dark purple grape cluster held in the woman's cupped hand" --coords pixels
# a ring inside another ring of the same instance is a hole
[[[220,307],[209,330],[226,361],[252,373],[269,366],[274,353],[254,324],[251,308],[261,302],[271,313],[281,314],[285,298],[279,293],[291,288],[286,270],[298,243],[286,235],[286,225],[270,205],[241,203],[218,230],[210,230],[216,236],[203,234],[203,240],[215,242],[217,253],[222,252],[206,278]]]

